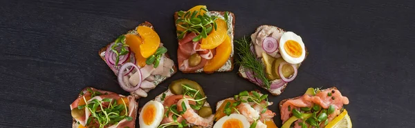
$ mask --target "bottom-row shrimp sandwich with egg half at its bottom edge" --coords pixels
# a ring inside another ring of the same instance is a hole
[[[273,121],[275,113],[268,109],[268,94],[244,91],[216,104],[214,128],[277,128]]]

